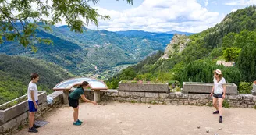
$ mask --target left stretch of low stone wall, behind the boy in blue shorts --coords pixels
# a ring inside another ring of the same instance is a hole
[[[52,94],[49,94],[48,96],[53,98],[52,105],[48,104],[44,100],[44,102],[39,101],[36,118],[43,115],[44,113],[47,113],[52,110],[52,108],[59,107],[62,105],[62,91],[56,91]],[[46,98],[46,97],[45,97]],[[26,102],[27,104],[27,102]],[[20,104],[23,105],[23,104]],[[26,108],[28,109],[28,108]],[[23,125],[27,124],[28,122],[28,111],[23,112],[20,115],[16,115],[9,121],[5,123],[0,124],[0,134],[11,134],[12,130],[16,130],[21,128]]]

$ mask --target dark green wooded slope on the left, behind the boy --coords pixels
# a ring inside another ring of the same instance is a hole
[[[0,105],[27,94],[30,74],[38,73],[38,91],[52,92],[52,88],[73,75],[53,63],[40,59],[0,55]]]

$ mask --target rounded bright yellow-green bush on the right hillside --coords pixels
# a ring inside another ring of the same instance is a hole
[[[226,62],[234,61],[240,53],[240,48],[226,48],[223,52],[223,57]]]

